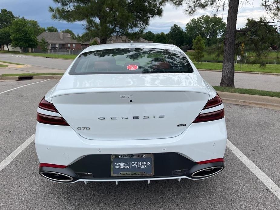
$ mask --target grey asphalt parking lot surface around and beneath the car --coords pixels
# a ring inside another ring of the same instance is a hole
[[[0,81],[0,162],[35,133],[37,105],[57,82]],[[234,104],[225,110],[229,141],[279,189],[280,111]],[[0,209],[280,209],[269,180],[241,159],[227,147],[226,168],[203,180],[60,184],[38,174],[31,142],[0,167]]]

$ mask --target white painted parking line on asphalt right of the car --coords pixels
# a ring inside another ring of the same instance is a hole
[[[261,169],[258,168],[249,158],[247,158],[236,146],[228,139],[226,146],[247,166],[264,185],[280,200],[280,188]]]

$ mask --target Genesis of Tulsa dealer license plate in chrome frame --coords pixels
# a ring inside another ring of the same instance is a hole
[[[112,176],[153,176],[153,154],[111,155]]]

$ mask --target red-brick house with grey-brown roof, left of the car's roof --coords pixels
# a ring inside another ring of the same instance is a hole
[[[48,32],[44,31],[37,36],[38,41],[44,38],[48,42],[48,49],[54,50],[81,50],[81,42],[72,38],[71,34],[64,32]],[[39,46],[37,48],[40,48]]]

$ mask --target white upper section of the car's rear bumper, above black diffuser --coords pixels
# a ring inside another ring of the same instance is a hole
[[[226,149],[225,119],[191,124],[173,138],[90,140],[71,126],[37,122],[35,148],[39,162],[68,166],[87,155],[178,153],[193,162],[222,158]]]

